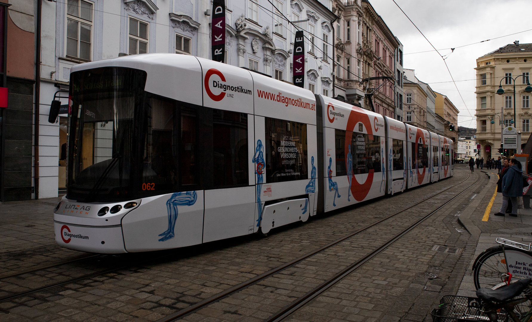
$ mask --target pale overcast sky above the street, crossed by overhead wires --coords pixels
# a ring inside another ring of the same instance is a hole
[[[373,8],[404,46],[404,68],[414,69],[415,76],[419,80],[429,83],[433,90],[451,99],[460,111],[459,126],[476,128],[475,118],[471,117],[475,115],[476,109],[476,73],[473,69],[476,67],[476,58],[511,44],[514,40],[519,40],[521,44],[532,43],[532,30],[493,39],[532,29],[528,18],[532,12],[532,1],[395,1],[436,49],[456,48],[453,53],[450,49],[439,50],[439,53],[444,56],[451,53],[445,62],[456,81],[463,101],[442,58],[434,52],[427,40],[394,2],[370,0]],[[458,48],[487,39],[493,40]],[[417,53],[425,50],[433,51]]]

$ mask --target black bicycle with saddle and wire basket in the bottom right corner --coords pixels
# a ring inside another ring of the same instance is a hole
[[[446,295],[442,297],[438,308],[433,309],[430,315],[434,322],[506,322],[509,318],[514,322],[528,322],[532,317],[532,309],[521,313],[515,308],[521,303],[532,300],[530,283],[532,283],[532,278],[525,278],[496,290],[483,287],[477,290],[477,298]],[[524,296],[518,297],[521,293]]]

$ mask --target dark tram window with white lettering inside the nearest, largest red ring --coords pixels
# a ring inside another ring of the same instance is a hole
[[[353,132],[351,154],[353,155],[353,174],[381,172],[383,149],[380,137]]]

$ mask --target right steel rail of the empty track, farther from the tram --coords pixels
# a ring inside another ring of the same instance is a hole
[[[400,239],[403,235],[405,235],[406,233],[410,232],[413,228],[415,228],[416,226],[418,226],[419,224],[424,222],[427,218],[429,218],[430,216],[432,216],[435,213],[437,213],[438,210],[442,209],[449,202],[451,202],[454,199],[458,198],[462,193],[464,193],[465,191],[469,190],[469,188],[473,187],[473,185],[475,185],[479,180],[480,180],[480,175],[478,175],[477,181],[473,182],[469,187],[465,188],[460,193],[456,194],[456,196],[454,196],[453,198],[445,201],[444,204],[438,206],[433,211],[430,211],[430,213],[428,213],[427,215],[425,215],[422,218],[418,219],[417,222],[415,222],[414,224],[410,225],[408,228],[406,228],[402,232],[398,233],[393,238],[390,238],[386,243],[380,245],[378,248],[372,250],[370,253],[368,253],[367,255],[365,255],[364,257],[359,259],[358,261],[356,261],[353,264],[351,264],[350,266],[346,267],[345,269],[342,270],[342,272],[339,272],[335,276],[329,278],[327,281],[325,281],[325,282],[321,283],[320,285],[314,287],[314,289],[312,289],[311,291],[307,292],[305,295],[301,296],[301,298],[298,298],[297,300],[295,300],[292,303],[288,304],[288,306],[286,306],[286,307],[282,308],[281,310],[277,311],[274,315],[272,315],[268,319],[264,319],[263,322],[279,322],[282,319],[286,318],[287,316],[289,316],[290,314],[292,314],[293,312],[295,312],[296,310],[298,310],[299,308],[304,306],[306,303],[308,303],[309,301],[314,299],[316,296],[320,295],[321,293],[323,293],[324,291],[329,289],[329,287],[331,287],[332,285],[334,285],[337,282],[339,282],[342,278],[344,278],[345,276],[351,274],[355,269],[357,269],[360,266],[362,266],[363,264],[365,264],[365,262],[367,262],[371,258],[375,257],[378,253],[380,253],[381,251],[386,249],[390,244],[394,243],[395,241]]]

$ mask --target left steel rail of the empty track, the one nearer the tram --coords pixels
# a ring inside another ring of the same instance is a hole
[[[376,222],[374,222],[374,223],[372,223],[372,224],[369,224],[369,225],[367,225],[367,226],[365,226],[365,227],[363,227],[363,228],[360,228],[359,230],[357,230],[357,231],[355,231],[355,232],[353,232],[353,233],[350,233],[350,234],[344,235],[343,237],[341,237],[341,238],[339,238],[339,239],[337,239],[337,240],[335,240],[335,241],[332,241],[332,242],[328,243],[327,245],[324,245],[323,247],[320,247],[320,248],[315,249],[315,250],[313,250],[313,251],[311,251],[311,252],[309,252],[309,253],[306,253],[305,255],[303,255],[303,256],[301,256],[301,257],[298,257],[298,258],[296,258],[296,259],[293,259],[293,260],[291,260],[291,261],[289,261],[289,262],[286,262],[286,263],[283,264],[283,265],[280,265],[280,266],[278,266],[278,267],[276,267],[276,268],[273,268],[273,269],[268,270],[267,272],[264,272],[264,273],[262,273],[262,274],[260,274],[260,275],[257,275],[257,276],[255,276],[255,277],[252,277],[252,278],[248,279],[248,280],[245,281],[245,282],[242,282],[242,283],[237,284],[237,285],[235,285],[235,286],[229,287],[229,289],[227,289],[227,290],[225,290],[225,291],[222,291],[222,292],[220,292],[220,293],[218,293],[218,294],[215,294],[215,295],[211,296],[210,298],[207,298],[207,299],[205,299],[205,300],[203,300],[203,301],[197,302],[196,304],[192,304],[191,306],[189,306],[189,307],[187,307],[187,308],[184,308],[184,309],[181,309],[181,310],[177,311],[176,313],[173,313],[172,315],[169,315],[169,316],[167,316],[167,317],[161,318],[161,319],[157,320],[156,322],[171,322],[171,321],[174,321],[174,320],[178,320],[178,319],[180,319],[180,318],[183,318],[183,317],[185,317],[185,316],[187,316],[187,315],[190,315],[190,314],[196,312],[197,310],[200,310],[200,309],[206,307],[207,305],[209,305],[209,304],[211,304],[211,303],[214,303],[214,302],[220,301],[221,299],[226,298],[227,296],[229,296],[229,295],[231,295],[231,294],[233,294],[233,293],[236,293],[236,292],[238,292],[238,291],[241,291],[241,290],[243,290],[243,289],[246,289],[247,287],[249,287],[249,286],[251,286],[251,285],[253,285],[253,284],[257,283],[257,282],[260,282],[260,281],[262,281],[263,279],[265,279],[265,278],[267,278],[267,277],[269,277],[269,276],[272,276],[272,275],[274,275],[274,274],[280,272],[281,270],[284,270],[284,269],[286,269],[286,268],[288,268],[288,267],[290,267],[290,266],[293,266],[293,265],[297,264],[298,262],[301,262],[301,261],[303,261],[303,260],[305,260],[305,259],[307,259],[307,258],[309,258],[309,257],[311,257],[311,256],[313,256],[313,255],[315,255],[315,254],[317,254],[317,253],[319,253],[319,252],[322,252],[323,250],[326,250],[326,249],[328,249],[328,248],[330,248],[330,247],[332,247],[332,246],[334,246],[334,245],[336,245],[336,244],[338,244],[338,243],[340,243],[340,242],[342,242],[342,241],[344,241],[344,240],[346,240],[346,239],[349,239],[349,238],[351,238],[352,236],[354,236],[354,235],[356,235],[356,234],[359,234],[359,233],[361,233],[361,232],[363,232],[363,231],[365,231],[365,230],[368,230],[369,228],[371,228],[371,227],[373,227],[373,226],[375,226],[375,225],[377,225],[377,224],[380,224],[380,223],[386,221],[386,220],[389,219],[389,218],[392,218],[392,217],[394,217],[394,216],[396,216],[396,215],[398,215],[398,214],[401,214],[401,213],[403,213],[404,211],[406,211],[406,210],[408,210],[408,209],[410,209],[410,208],[412,208],[412,207],[415,207],[415,206],[421,204],[421,202],[424,202],[424,201],[427,201],[428,199],[434,198],[434,197],[436,197],[438,194],[443,193],[443,192],[445,192],[445,191],[447,191],[447,190],[449,190],[449,189],[451,189],[451,188],[454,188],[454,187],[456,187],[456,185],[459,185],[459,184],[461,184],[462,182],[468,180],[469,177],[470,177],[470,174],[468,173],[468,176],[467,176],[464,180],[460,181],[459,183],[456,183],[456,184],[452,185],[451,187],[449,187],[449,188],[447,188],[447,189],[444,189],[444,190],[442,190],[442,191],[440,191],[440,192],[437,192],[437,193],[433,194],[432,196],[430,196],[430,197],[428,197],[428,198],[425,198],[425,199],[423,199],[423,200],[421,200],[421,201],[418,201],[418,202],[416,202],[415,204],[413,204],[413,205],[411,205],[411,206],[409,206],[409,207],[406,207],[406,208],[404,208],[404,209],[402,209],[402,210],[400,210],[400,211],[397,211],[396,213],[394,213],[394,214],[392,214],[392,215],[389,215],[388,217],[385,217],[385,218],[379,219],[378,221],[376,221]],[[480,178],[480,176],[479,176],[479,178]],[[477,183],[478,180],[480,180],[480,179],[477,179],[477,181],[476,181],[475,183]],[[473,183],[473,184],[475,184],[475,183]],[[471,187],[471,186],[469,186],[467,189],[469,189],[470,187]],[[467,190],[467,189],[466,189],[466,190]],[[464,190],[464,191],[465,191],[465,190]],[[463,191],[462,191],[462,192],[463,192]],[[461,193],[462,193],[462,192],[461,192]],[[458,195],[457,195],[456,197],[458,197]]]

